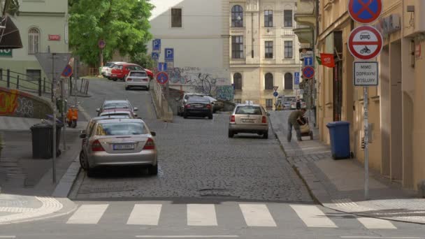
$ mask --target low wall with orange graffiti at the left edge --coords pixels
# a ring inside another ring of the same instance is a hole
[[[0,87],[0,116],[45,119],[48,114],[52,114],[48,101],[16,89]]]

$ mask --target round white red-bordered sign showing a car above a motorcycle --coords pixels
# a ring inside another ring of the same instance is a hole
[[[370,60],[380,55],[383,38],[375,27],[361,26],[348,38],[348,50],[357,59]]]

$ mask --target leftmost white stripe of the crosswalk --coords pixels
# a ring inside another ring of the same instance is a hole
[[[81,205],[66,224],[97,224],[108,204]]]

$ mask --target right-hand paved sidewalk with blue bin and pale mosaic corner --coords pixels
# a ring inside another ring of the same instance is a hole
[[[355,159],[333,160],[328,145],[315,139],[297,142],[295,133],[287,142],[287,117],[291,111],[271,112],[271,125],[287,160],[308,185],[312,196],[333,210],[365,217],[425,224],[425,198],[391,183],[380,173],[370,172],[370,200],[364,200],[364,170]],[[310,120],[311,122],[311,120]]]

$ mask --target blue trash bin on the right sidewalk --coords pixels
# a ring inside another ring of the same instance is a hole
[[[331,136],[333,159],[350,159],[350,122],[330,122],[326,127]]]

